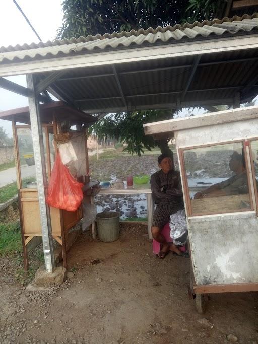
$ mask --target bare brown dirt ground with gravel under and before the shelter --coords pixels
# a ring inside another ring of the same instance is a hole
[[[82,234],[68,259],[71,279],[28,292],[1,258],[0,343],[258,343],[258,293],[213,294],[198,314],[189,259],[157,259],[146,226],[121,225],[113,243]]]

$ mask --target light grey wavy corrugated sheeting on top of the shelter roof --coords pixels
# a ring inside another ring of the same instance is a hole
[[[82,51],[92,52],[95,50],[118,49],[140,46],[144,44],[168,43],[181,39],[195,39],[198,37],[209,37],[211,35],[221,36],[224,34],[236,34],[239,31],[249,32],[258,28],[258,14],[252,16],[244,15],[242,17],[215,19],[213,21],[205,20],[202,23],[186,23],[184,25],[157,27],[139,31],[122,31],[112,34],[80,37],[78,39],[54,40],[53,42],[40,42],[38,44],[24,44],[15,47],[0,48],[0,63],[9,61],[22,61],[24,59],[51,58],[57,55],[71,55]]]

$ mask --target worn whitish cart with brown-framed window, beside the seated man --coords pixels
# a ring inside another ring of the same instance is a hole
[[[144,125],[174,137],[188,227],[189,295],[258,291],[258,107]]]

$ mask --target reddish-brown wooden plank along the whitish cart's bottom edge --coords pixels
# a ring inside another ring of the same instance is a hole
[[[193,286],[196,294],[212,293],[235,293],[235,292],[258,292],[258,283],[232,283],[211,284],[205,286]]]

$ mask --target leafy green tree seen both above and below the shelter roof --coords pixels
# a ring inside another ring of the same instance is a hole
[[[104,35],[114,31],[139,30],[176,23],[212,19],[221,16],[226,0],[64,0],[63,25],[58,38]],[[171,119],[175,109],[110,114],[90,128],[99,139],[113,137],[127,143],[130,153],[141,155],[143,149],[159,147],[170,153],[168,142],[144,135],[143,124]]]

